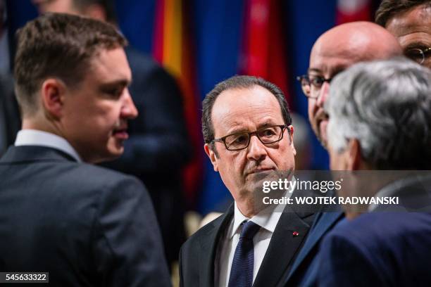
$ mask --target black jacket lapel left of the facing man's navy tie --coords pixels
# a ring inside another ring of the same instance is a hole
[[[214,286],[215,255],[217,254],[220,236],[230,224],[234,213],[233,204],[222,216],[212,223],[213,228],[201,236],[201,252],[199,253],[199,286]]]

